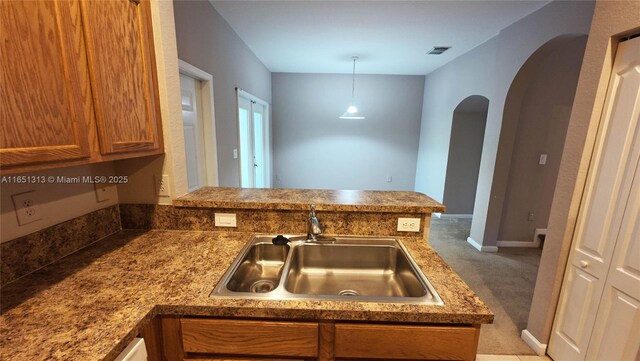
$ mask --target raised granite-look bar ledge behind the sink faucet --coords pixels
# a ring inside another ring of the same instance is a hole
[[[350,212],[444,212],[445,206],[418,192],[203,187],[173,201],[177,207]]]

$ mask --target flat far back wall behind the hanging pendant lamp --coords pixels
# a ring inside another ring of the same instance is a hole
[[[424,76],[274,73],[274,186],[413,190]],[[387,177],[392,182],[387,182]]]

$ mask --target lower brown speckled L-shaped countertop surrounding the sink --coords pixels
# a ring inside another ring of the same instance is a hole
[[[445,305],[209,298],[250,238],[120,231],[2,288],[0,359],[112,360],[155,315],[491,323],[427,243],[401,238]]]

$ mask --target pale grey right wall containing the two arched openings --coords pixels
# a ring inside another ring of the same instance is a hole
[[[493,246],[497,241],[509,163],[496,164],[496,156],[511,82],[527,58],[546,42],[563,34],[586,34],[593,6],[589,1],[551,2],[425,80],[415,189],[439,201],[444,193],[453,110],[470,95],[489,99],[471,226],[471,238],[479,244]]]

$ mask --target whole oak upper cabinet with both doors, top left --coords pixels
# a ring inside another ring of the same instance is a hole
[[[149,0],[0,1],[3,172],[163,152]]]

